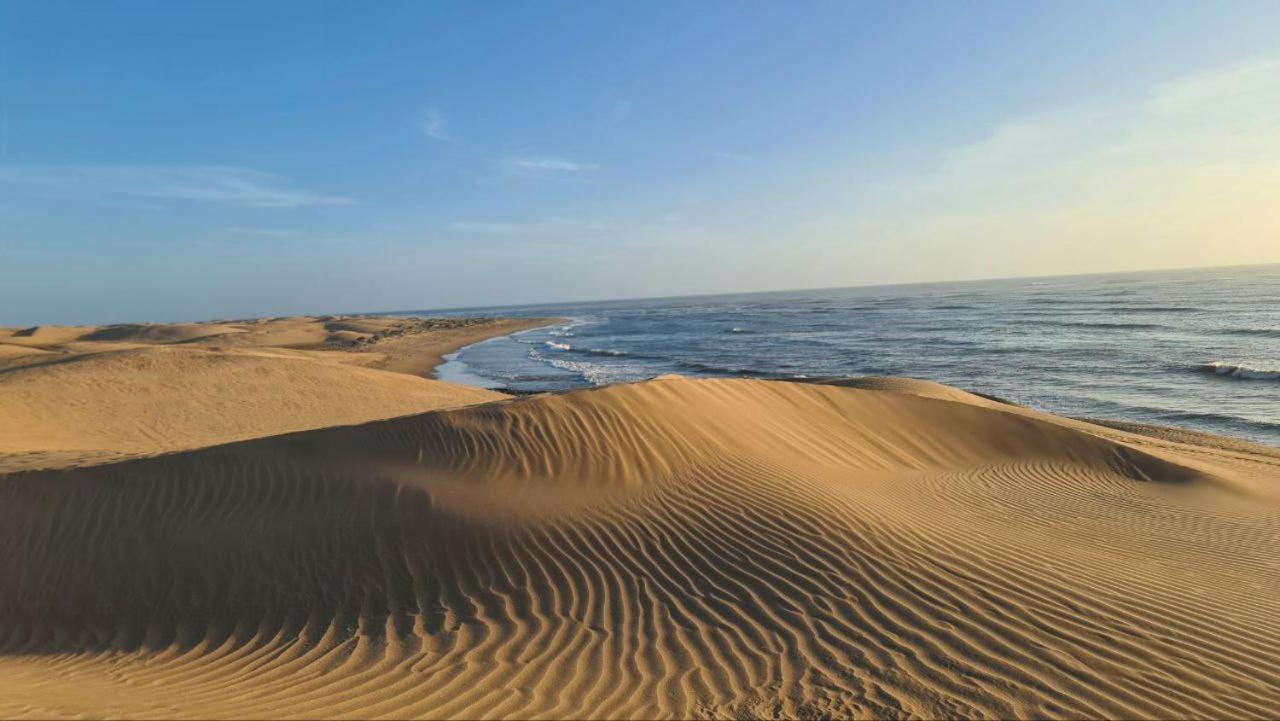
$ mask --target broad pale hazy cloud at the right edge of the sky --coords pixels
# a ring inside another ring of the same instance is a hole
[[[1254,174],[1277,158],[1280,58],[1268,58],[1178,78],[1129,102],[1010,119],[948,152],[916,190],[996,191],[1005,204],[1103,191],[1094,200],[1111,205],[1225,166]]]

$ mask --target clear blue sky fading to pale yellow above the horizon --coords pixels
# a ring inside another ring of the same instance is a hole
[[[0,0],[0,324],[1276,263],[1277,27],[1270,0]]]

